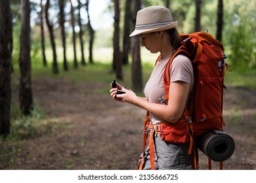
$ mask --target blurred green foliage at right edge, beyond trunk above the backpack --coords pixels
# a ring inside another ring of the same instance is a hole
[[[247,0],[229,2],[229,22],[225,40],[230,51],[229,59],[241,71],[256,67],[256,2]],[[250,5],[250,6],[248,6]]]

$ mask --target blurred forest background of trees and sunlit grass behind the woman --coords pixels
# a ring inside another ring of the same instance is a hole
[[[142,94],[158,55],[128,36],[150,5],[170,8],[180,33],[223,42],[233,69],[225,82],[256,89],[255,0],[0,0],[0,145],[45,133],[47,107],[33,96],[44,78],[94,83],[100,95],[115,78]]]

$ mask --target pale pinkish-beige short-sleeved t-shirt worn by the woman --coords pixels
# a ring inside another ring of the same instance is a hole
[[[168,63],[169,59],[170,58],[159,60],[156,63],[156,66],[153,72],[151,73],[149,80],[147,81],[144,92],[147,100],[151,103],[160,104],[159,98],[165,94],[162,75],[163,75],[166,63]],[[189,96],[190,96],[192,92],[192,88],[194,86],[194,75],[193,75],[192,63],[189,58],[183,55],[179,55],[176,58],[174,58],[174,61],[170,69],[170,77],[171,77],[170,79],[171,82],[183,81],[191,84],[189,88]],[[189,97],[187,99],[187,103],[188,101],[189,101]],[[166,104],[162,103],[162,105],[166,105]],[[151,122],[153,124],[160,124],[164,122],[164,120],[156,118],[153,114],[150,114],[150,117],[151,117]]]

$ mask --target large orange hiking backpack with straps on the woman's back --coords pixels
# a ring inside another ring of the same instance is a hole
[[[168,101],[169,87],[170,87],[170,67],[174,58],[183,54],[191,59],[194,69],[194,88],[192,90],[189,108],[185,108],[183,116],[180,121],[187,122],[190,129],[191,146],[189,154],[191,154],[192,144],[194,145],[194,137],[198,137],[211,130],[223,131],[223,84],[225,76],[225,63],[227,56],[223,52],[223,44],[217,41],[208,33],[196,32],[191,34],[181,34],[181,47],[175,52],[174,56],[170,58],[166,64],[164,74],[162,76],[164,82],[165,95],[162,101]],[[157,59],[157,61],[160,58]],[[149,112],[145,120],[145,131],[149,126]],[[157,131],[156,127],[151,127],[153,131],[162,135]],[[151,130],[152,131],[152,130]],[[160,131],[160,130],[159,130]],[[175,137],[172,137],[175,138]],[[179,138],[179,137],[177,137]],[[147,135],[144,134],[143,150],[146,144]],[[153,149],[153,137],[149,135],[149,150]],[[179,141],[176,139],[175,141]],[[151,150],[150,154],[153,153]],[[151,155],[151,158],[154,158]],[[196,168],[196,159],[195,159]],[[153,161],[151,161],[151,168],[154,169]],[[140,165],[139,169],[142,168]]]

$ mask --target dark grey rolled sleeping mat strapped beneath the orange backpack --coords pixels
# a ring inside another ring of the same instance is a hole
[[[196,146],[213,161],[225,161],[232,156],[234,139],[219,130],[208,131],[196,138]]]

